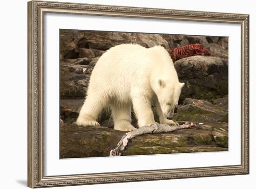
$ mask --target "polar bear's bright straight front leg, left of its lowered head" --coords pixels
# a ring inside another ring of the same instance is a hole
[[[133,108],[138,119],[138,126],[150,126],[155,123],[154,113],[151,108],[151,103],[147,97],[142,94],[132,97]]]

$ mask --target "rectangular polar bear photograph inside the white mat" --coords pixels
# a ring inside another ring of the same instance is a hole
[[[228,46],[60,29],[60,158],[228,151]]]

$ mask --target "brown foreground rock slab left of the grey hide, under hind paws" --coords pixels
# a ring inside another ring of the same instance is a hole
[[[65,123],[61,127],[61,158],[109,156],[123,134],[103,126]]]

